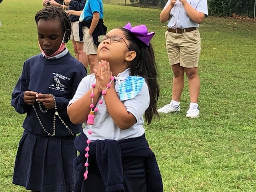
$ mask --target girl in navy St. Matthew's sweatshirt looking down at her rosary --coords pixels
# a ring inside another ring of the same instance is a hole
[[[77,156],[74,139],[82,126],[70,122],[67,106],[86,69],[64,44],[71,24],[62,8],[44,7],[35,20],[42,53],[24,62],[12,92],[12,106],[26,113],[13,183],[32,192],[71,192]]]

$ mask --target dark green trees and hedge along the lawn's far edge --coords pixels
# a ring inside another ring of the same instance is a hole
[[[109,0],[111,1],[111,0]],[[167,0],[130,0],[134,6],[163,8]],[[208,0],[209,16],[255,17],[255,0]]]

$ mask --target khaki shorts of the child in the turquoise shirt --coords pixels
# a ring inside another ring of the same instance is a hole
[[[89,28],[83,27],[84,33],[84,52],[86,55],[96,55],[97,54],[97,46],[93,42],[92,36],[88,33]]]

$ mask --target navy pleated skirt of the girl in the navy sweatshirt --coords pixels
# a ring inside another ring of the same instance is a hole
[[[40,192],[71,192],[74,188],[75,136],[34,135],[26,130],[15,160],[13,184]]]

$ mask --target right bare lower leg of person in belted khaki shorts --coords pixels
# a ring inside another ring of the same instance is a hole
[[[198,76],[198,68],[185,68],[188,77],[188,86],[190,94],[190,102],[197,103],[200,92],[200,79]]]

